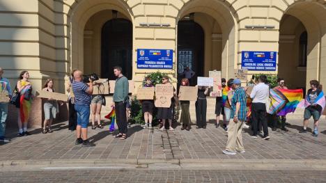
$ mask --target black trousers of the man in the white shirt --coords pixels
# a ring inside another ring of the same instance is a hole
[[[251,104],[251,117],[252,117],[252,127],[253,135],[258,134],[258,124],[261,122],[263,125],[264,136],[268,136],[268,127],[266,120],[266,105],[264,103],[252,103]]]

